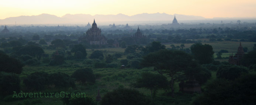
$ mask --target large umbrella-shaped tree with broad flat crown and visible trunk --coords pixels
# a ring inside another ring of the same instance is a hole
[[[184,51],[159,50],[143,57],[141,65],[153,66],[161,75],[168,75],[172,96],[174,96],[174,83],[178,79],[179,73],[187,70],[191,66],[192,57]]]

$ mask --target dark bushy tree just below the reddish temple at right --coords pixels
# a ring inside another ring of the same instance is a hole
[[[248,69],[237,65],[221,65],[217,71],[217,78],[225,78],[228,80],[235,80],[242,73],[248,73]]]

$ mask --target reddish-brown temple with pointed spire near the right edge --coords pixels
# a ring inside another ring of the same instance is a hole
[[[245,54],[245,52],[243,51],[243,47],[240,42],[240,46],[238,47],[238,50],[235,56],[233,56],[233,53],[232,55],[229,56],[229,59],[228,59],[229,64],[240,65],[241,64],[240,61],[243,57],[243,54]]]

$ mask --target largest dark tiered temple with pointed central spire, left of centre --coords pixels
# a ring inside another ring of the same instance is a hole
[[[91,26],[91,28],[87,30],[85,38],[90,44],[107,44],[107,38],[101,35],[101,29],[97,27],[95,19],[93,21],[93,25]]]

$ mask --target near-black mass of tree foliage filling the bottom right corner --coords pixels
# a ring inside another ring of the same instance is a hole
[[[204,93],[194,97],[192,105],[254,105],[256,74],[244,74],[234,82],[215,79],[205,86]]]

